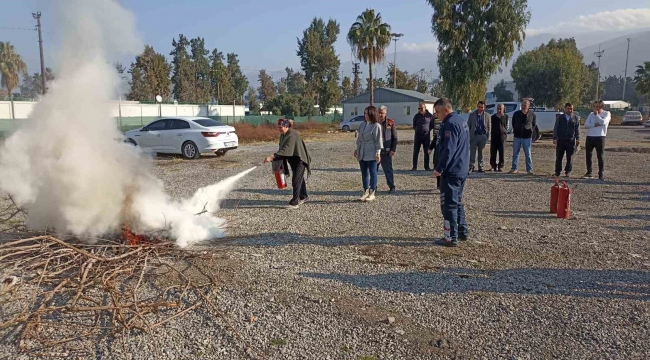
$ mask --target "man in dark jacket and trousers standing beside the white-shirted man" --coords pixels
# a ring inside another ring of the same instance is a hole
[[[573,113],[573,105],[564,105],[564,114],[555,119],[553,128],[553,144],[555,144],[555,176],[562,171],[562,158],[566,153],[564,176],[569,177],[573,169],[573,153],[580,145],[580,119]]]

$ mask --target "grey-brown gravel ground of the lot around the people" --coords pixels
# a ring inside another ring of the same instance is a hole
[[[650,140],[636,127],[610,136],[612,149]],[[442,236],[438,192],[429,172],[407,171],[412,145],[398,146],[397,193],[360,203],[353,142],[331,134],[308,144],[310,201],[299,210],[280,208],[290,189],[275,189],[268,165],[224,201],[229,238],[203,245],[220,256],[200,265],[222,281],[214,301],[225,316],[200,310],[133,334],[128,355],[103,339],[95,358],[648,358],[648,154],[608,151],[606,182],[569,179],[573,216],[560,220],[548,214],[554,150],[543,140],[535,176],[470,177],[471,238],[450,249],[432,244]],[[155,171],[173,196],[188,196],[275,149],[159,158]],[[584,172],[581,151],[574,174]],[[3,338],[0,357],[15,353]]]

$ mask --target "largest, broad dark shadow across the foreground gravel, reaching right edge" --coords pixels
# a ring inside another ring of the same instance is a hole
[[[650,301],[650,272],[628,270],[444,268],[436,272],[347,275],[301,273],[323,280],[413,294],[488,292]]]

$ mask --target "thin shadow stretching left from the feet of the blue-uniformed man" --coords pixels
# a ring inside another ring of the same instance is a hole
[[[342,230],[341,233],[344,233]],[[384,236],[341,236],[314,237],[291,233],[266,233],[248,236],[234,236],[211,243],[213,247],[222,246],[286,246],[286,245],[393,245],[393,246],[436,246],[432,238],[384,237]],[[208,244],[206,244],[208,245]]]

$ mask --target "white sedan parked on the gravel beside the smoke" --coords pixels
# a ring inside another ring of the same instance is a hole
[[[198,159],[202,153],[223,156],[236,149],[235,128],[205,117],[175,116],[124,133],[125,142],[164,154]]]

